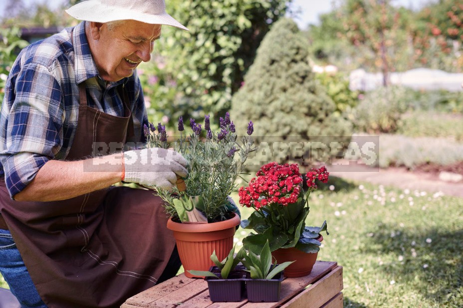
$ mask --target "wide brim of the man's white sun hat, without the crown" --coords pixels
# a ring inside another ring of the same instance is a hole
[[[116,20],[137,20],[151,24],[165,24],[182,30],[189,29],[168,13],[146,14],[127,8],[110,7],[99,1],[87,0],[79,2],[65,10],[66,13],[79,20],[94,22],[110,22]]]

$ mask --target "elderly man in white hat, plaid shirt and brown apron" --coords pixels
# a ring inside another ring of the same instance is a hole
[[[162,24],[188,29],[164,0],[87,0],[67,12],[84,21],[22,50],[5,87],[0,272],[23,307],[118,307],[180,267],[160,198],[111,185],[186,176],[174,151],[121,151],[144,142],[136,67]]]

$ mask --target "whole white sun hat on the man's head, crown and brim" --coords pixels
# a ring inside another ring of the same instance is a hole
[[[187,27],[166,13],[164,0],[86,0],[69,7],[66,12],[79,20],[109,22],[133,19],[188,31]]]

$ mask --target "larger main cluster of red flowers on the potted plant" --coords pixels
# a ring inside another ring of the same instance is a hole
[[[248,187],[238,190],[239,203],[259,209],[272,203],[295,203],[302,191],[302,177],[297,164],[270,162],[263,165],[249,181]]]

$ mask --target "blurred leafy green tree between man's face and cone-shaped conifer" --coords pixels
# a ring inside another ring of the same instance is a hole
[[[219,119],[230,108],[231,96],[243,81],[255,50],[272,24],[284,15],[286,0],[169,0],[167,11],[190,32],[163,28],[161,51],[166,78],[180,96],[175,101],[152,103],[170,119]],[[169,82],[159,80],[159,83]],[[164,91],[169,92],[169,91]],[[158,92],[159,94],[160,92]],[[175,122],[175,120],[174,120]],[[174,123],[171,123],[174,125]]]

